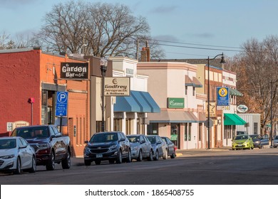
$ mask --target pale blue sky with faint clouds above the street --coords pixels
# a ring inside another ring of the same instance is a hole
[[[77,0],[76,0],[77,1]],[[124,4],[143,16],[166,58],[234,57],[255,38],[277,36],[277,0],[81,0]],[[28,35],[43,25],[52,6],[68,0],[0,0],[0,35]]]

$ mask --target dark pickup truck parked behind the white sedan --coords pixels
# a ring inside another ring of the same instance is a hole
[[[55,169],[55,163],[62,163],[63,169],[71,167],[71,141],[62,136],[55,125],[36,125],[18,127],[11,136],[21,136],[36,151],[36,165],[46,166],[46,170]]]

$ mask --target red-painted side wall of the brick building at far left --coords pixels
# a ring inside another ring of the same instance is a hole
[[[40,54],[38,50],[0,53],[0,134],[7,122],[24,120],[31,124],[31,104],[34,97],[33,124],[40,124]]]

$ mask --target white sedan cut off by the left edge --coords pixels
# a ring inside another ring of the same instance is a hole
[[[0,171],[16,174],[27,170],[36,172],[36,153],[29,143],[19,136],[0,138]]]

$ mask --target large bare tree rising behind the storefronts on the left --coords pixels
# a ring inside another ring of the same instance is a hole
[[[121,4],[57,4],[43,19],[34,43],[53,52],[135,57],[135,41],[148,36],[150,28],[145,18],[131,14]]]

